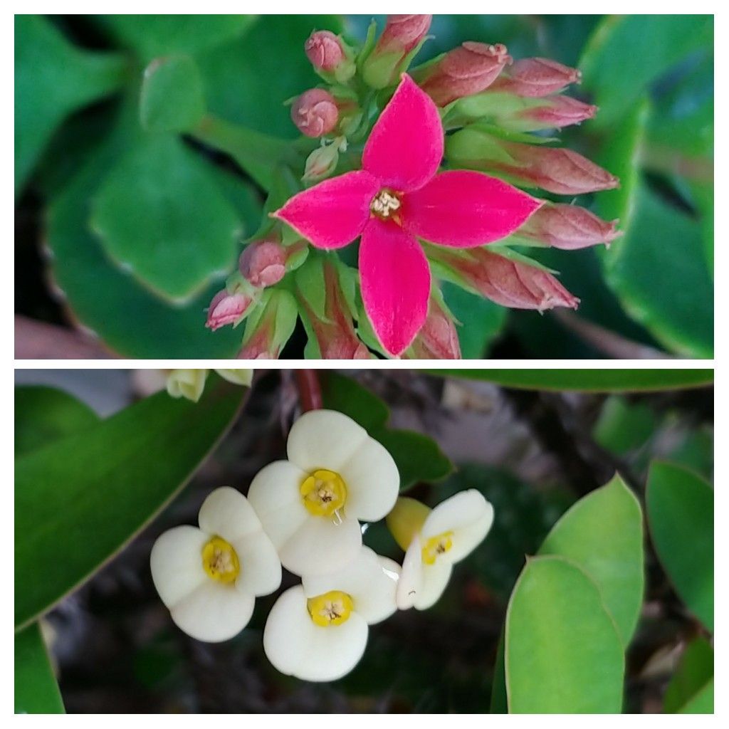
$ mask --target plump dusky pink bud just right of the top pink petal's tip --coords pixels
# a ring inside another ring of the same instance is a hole
[[[511,62],[506,46],[466,42],[418,74],[416,80],[437,106],[485,90]]]

